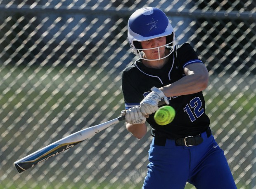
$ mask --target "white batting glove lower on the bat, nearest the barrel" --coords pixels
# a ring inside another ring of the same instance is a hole
[[[143,124],[146,122],[146,117],[141,113],[140,107],[131,107],[126,110],[126,122],[129,124]]]

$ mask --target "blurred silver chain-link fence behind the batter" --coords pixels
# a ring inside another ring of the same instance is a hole
[[[119,116],[121,72],[136,58],[127,21],[145,6],[164,10],[206,64],[213,134],[237,187],[256,189],[253,0],[1,0],[0,188],[142,187],[151,136],[135,139],[124,122],[24,173],[14,161]]]

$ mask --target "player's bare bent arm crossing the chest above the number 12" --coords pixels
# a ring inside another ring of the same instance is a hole
[[[185,77],[177,82],[159,88],[167,97],[187,95],[203,91],[209,80],[206,67],[203,64],[188,65],[184,69]]]

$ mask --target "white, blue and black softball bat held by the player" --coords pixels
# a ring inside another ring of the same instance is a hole
[[[163,105],[164,101],[160,101],[159,105]],[[27,170],[28,168],[36,166],[38,163],[41,163],[43,161],[46,161],[50,157],[54,157],[60,152],[64,152],[65,150],[77,145],[78,143],[82,142],[85,139],[88,139],[95,134],[99,133],[100,131],[108,128],[111,125],[119,123],[119,121],[125,120],[125,111],[121,112],[121,116],[112,119],[110,121],[107,121],[105,123],[95,125],[89,128],[85,128],[81,131],[78,131],[76,133],[73,133],[69,136],[66,136],[65,138],[62,138],[56,142],[53,142],[52,144],[43,147],[39,149],[36,152],[33,152],[32,154],[29,154],[28,156],[19,159],[18,161],[15,161],[15,167],[19,171],[19,173],[22,173],[23,171]]]

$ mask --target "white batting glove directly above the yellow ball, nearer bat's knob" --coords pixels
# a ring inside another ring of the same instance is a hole
[[[158,103],[164,98],[166,104],[169,104],[169,100],[164,95],[162,91],[160,91],[155,86],[151,89],[151,93],[149,93],[141,102],[140,102],[140,111],[143,115],[152,114],[158,110]]]

